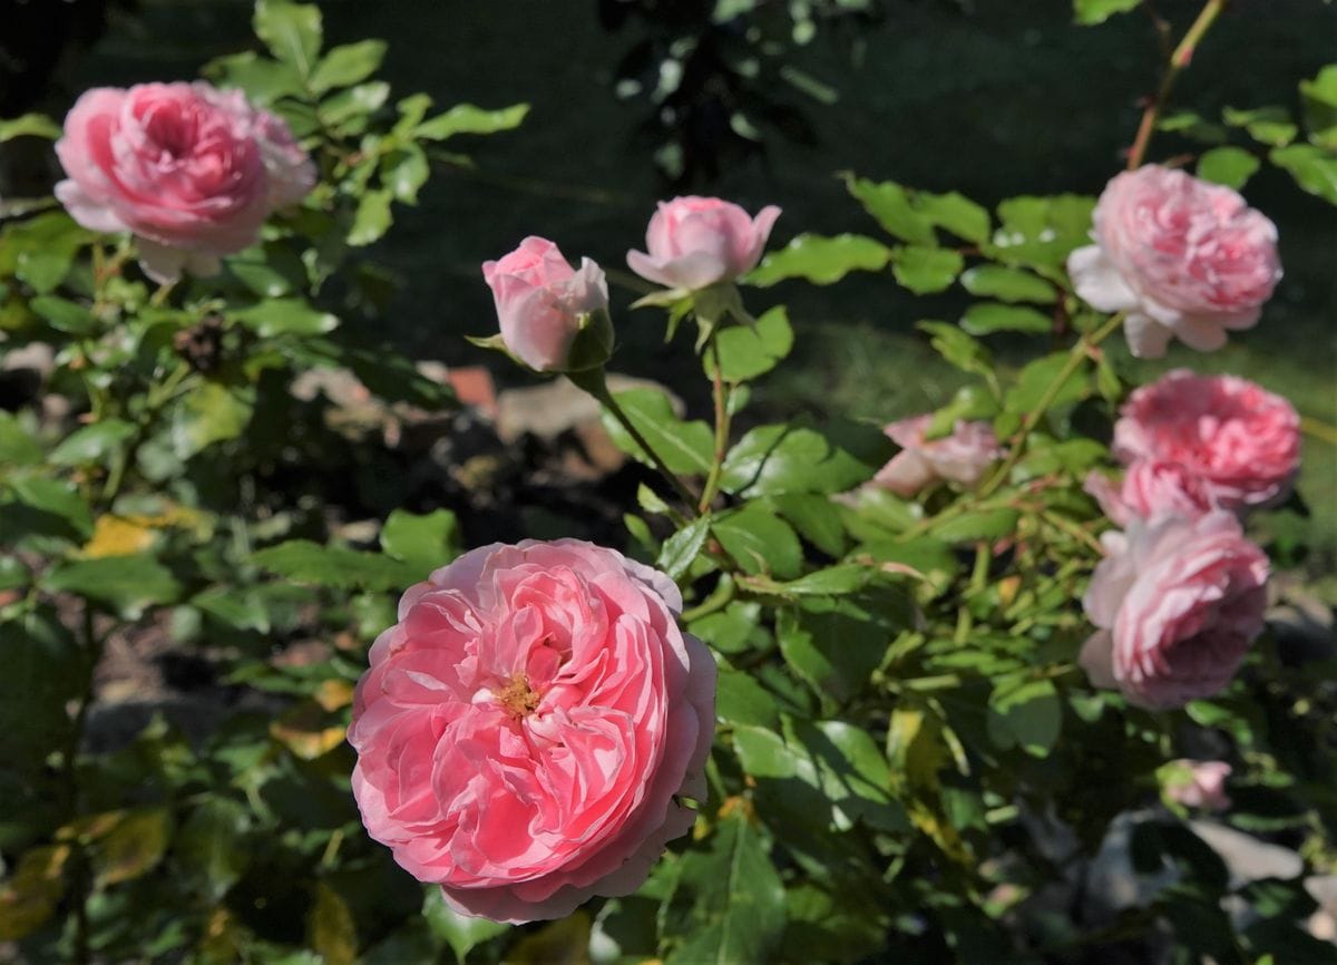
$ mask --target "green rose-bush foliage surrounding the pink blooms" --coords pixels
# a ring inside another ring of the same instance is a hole
[[[1076,16],[1135,5],[1078,0]],[[828,9],[800,8],[800,23]],[[800,234],[742,279],[865,271],[964,293],[959,317],[931,309],[917,327],[965,386],[929,434],[983,420],[1005,444],[973,489],[868,487],[896,453],[880,426],[750,408],[801,350],[778,306],[703,326],[710,421],[651,389],[600,398],[614,442],[667,472],[644,473],[634,552],[678,581],[686,628],[719,664],[697,826],[635,894],[525,929],[461,917],[397,869],[358,822],[345,727],[394,593],[460,533],[445,509],[392,503],[374,536],[333,536],[337,495],[294,468],[377,466],[293,384],[345,366],[388,401],[453,404],[358,341],[388,295],[361,249],[416,203],[432,162],[460,160],[439,144],[505,131],[524,107],[392,100],[384,44],[325,49],[316,7],[259,0],[254,27],[263,51],[206,74],[282,114],[321,183],[223,275],[154,290],[131,239],[41,199],[0,226],[5,348],[57,346],[52,394],[79,413],[0,413],[0,941],[82,962],[1060,962],[1170,929],[1183,961],[1332,961],[1302,930],[1304,875],[1231,879],[1157,778],[1174,758],[1230,759],[1225,821],[1330,871],[1337,696],[1316,683],[1330,660],[1296,663],[1265,638],[1226,692],[1158,714],[1076,666],[1106,525],[1083,480],[1108,461],[1131,378],[1103,345],[1119,318],[1086,307],[1064,269],[1094,206],[1072,194],[991,210],[849,174],[857,234]],[[1211,142],[1199,175],[1242,184],[1265,151],[1332,200],[1334,70],[1301,84],[1305,143],[1275,110],[1231,111],[1227,138],[1262,147]],[[1202,132],[1185,118],[1159,127]],[[32,115],[0,127],[56,132]],[[1019,345],[1029,361],[997,361]],[[217,726],[155,716],[107,750],[91,739],[94,675],[146,631],[221,667],[225,706]],[[1055,889],[1080,902],[1116,818],[1146,900],[1098,926],[1090,909],[1055,914]],[[1226,900],[1255,920],[1237,928]]]

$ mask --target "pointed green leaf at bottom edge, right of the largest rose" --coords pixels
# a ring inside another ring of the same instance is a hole
[[[681,944],[664,965],[766,965],[785,929],[785,887],[742,809],[721,818],[679,862],[663,934]]]

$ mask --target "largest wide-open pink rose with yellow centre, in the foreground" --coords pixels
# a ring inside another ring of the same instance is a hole
[[[357,687],[362,821],[464,914],[634,891],[706,797],[715,664],[662,573],[579,540],[495,544],[404,593]]]

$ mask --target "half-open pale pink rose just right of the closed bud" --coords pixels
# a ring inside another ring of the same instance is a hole
[[[697,291],[747,274],[779,218],[774,204],[755,218],[719,198],[659,202],[646,230],[646,251],[628,251],[627,265],[646,281]]]

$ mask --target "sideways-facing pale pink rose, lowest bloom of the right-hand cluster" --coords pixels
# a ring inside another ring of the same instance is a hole
[[[1230,683],[1263,626],[1267,557],[1217,511],[1106,533],[1082,605],[1099,631],[1080,663],[1096,687],[1151,710],[1182,707]]]

